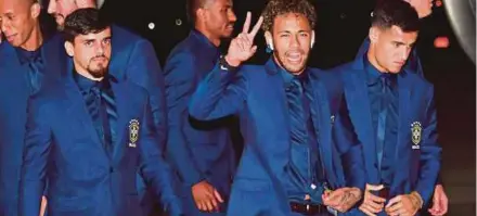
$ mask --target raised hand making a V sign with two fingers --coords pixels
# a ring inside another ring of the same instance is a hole
[[[248,29],[250,28],[250,12],[247,12],[247,18],[245,20],[242,33],[230,42],[225,61],[231,66],[238,66],[242,62],[250,59],[257,51],[257,46],[254,46],[254,38],[260,29],[263,17],[260,16],[252,31],[248,33]]]

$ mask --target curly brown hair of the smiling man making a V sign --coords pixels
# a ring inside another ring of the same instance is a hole
[[[317,12],[314,11],[313,4],[308,0],[270,0],[261,13],[263,16],[261,29],[263,31],[271,30],[276,16],[287,13],[302,14],[307,17],[311,28],[314,28]]]

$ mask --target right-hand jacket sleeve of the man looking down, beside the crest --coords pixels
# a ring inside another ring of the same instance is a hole
[[[437,142],[437,118],[434,102],[434,88],[429,88],[427,96],[426,119],[423,123],[420,176],[415,191],[417,191],[424,204],[428,204],[434,193],[436,180],[440,170],[441,148]]]

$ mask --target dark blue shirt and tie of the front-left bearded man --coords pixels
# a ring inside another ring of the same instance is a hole
[[[114,128],[117,122],[117,112],[114,94],[107,79],[96,82],[91,88],[87,97],[87,107],[105,151],[112,156],[116,137]]]

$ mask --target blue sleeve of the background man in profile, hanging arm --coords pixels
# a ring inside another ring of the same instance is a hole
[[[168,60],[165,71],[168,105],[167,155],[182,180],[192,187],[205,178],[193,162],[188,135],[182,130],[190,127],[188,103],[195,90],[194,58],[190,54],[175,55]]]

